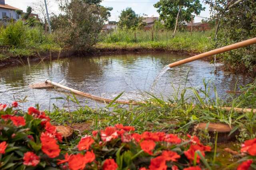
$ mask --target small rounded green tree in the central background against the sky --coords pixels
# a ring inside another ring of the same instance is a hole
[[[136,14],[132,8],[122,10],[119,19],[118,26],[121,29],[137,29],[145,25],[143,18]]]

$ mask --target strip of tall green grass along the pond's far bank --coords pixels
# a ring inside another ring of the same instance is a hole
[[[172,37],[172,31],[122,31],[102,33],[101,41],[95,48],[101,51],[111,50],[165,50],[189,53],[202,53],[210,43],[213,31],[206,32],[178,32]]]

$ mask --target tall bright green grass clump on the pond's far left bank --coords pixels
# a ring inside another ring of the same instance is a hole
[[[40,27],[24,25],[22,21],[8,23],[6,27],[0,28],[0,45],[9,47],[8,51],[0,55],[0,61],[61,49],[52,35],[45,34]]]

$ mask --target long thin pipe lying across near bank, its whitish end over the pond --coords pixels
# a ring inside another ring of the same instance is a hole
[[[94,96],[94,95],[91,95],[91,94],[88,94],[88,93],[84,93],[84,92],[80,92],[78,90],[75,90],[75,89],[72,89],[72,88],[69,88],[67,86],[63,86],[61,84],[58,84],[56,82],[53,82],[51,80],[46,80],[45,81],[46,84],[52,84],[54,86],[57,86],[59,88],[63,88],[65,90],[68,90],[70,92],[73,92],[74,94],[78,94],[80,96],[84,96],[86,98],[90,98],[92,100],[96,100],[96,101],[99,101],[99,102],[106,102],[106,103],[110,103],[110,102],[113,102],[112,99],[108,99],[108,98],[102,98],[102,97],[99,97],[99,96]],[[134,100],[131,100],[131,101],[126,101],[126,100],[116,100],[114,103],[118,103],[118,104],[131,104],[131,105],[135,105],[135,106],[139,106],[139,105],[142,105],[142,104],[146,104],[146,102],[138,102],[138,101],[134,101]],[[150,104],[156,104],[155,102],[149,102]],[[170,104],[170,103],[167,103],[170,107],[175,107],[176,105],[174,104]],[[195,107],[195,105],[193,105],[193,107]],[[223,109],[225,111],[232,111],[232,107],[218,107],[219,109]],[[214,109],[213,106],[210,106],[210,109]],[[233,108],[234,111],[238,112],[238,113],[247,113],[247,112],[253,112],[253,113],[256,113],[256,109],[243,109],[243,108]]]

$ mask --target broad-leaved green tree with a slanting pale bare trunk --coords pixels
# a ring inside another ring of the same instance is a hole
[[[205,10],[200,0],[160,0],[154,4],[154,7],[158,8],[157,12],[160,14],[160,19],[164,20],[166,28],[175,29],[174,35],[178,23],[189,22],[192,13],[199,15]]]

